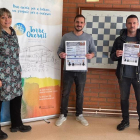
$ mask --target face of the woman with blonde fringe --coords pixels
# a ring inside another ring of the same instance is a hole
[[[11,26],[12,24],[12,17],[4,12],[2,16],[0,16],[0,25],[3,29],[7,29]]]

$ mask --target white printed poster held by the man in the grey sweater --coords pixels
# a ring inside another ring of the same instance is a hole
[[[66,41],[66,70],[87,70],[86,41]]]

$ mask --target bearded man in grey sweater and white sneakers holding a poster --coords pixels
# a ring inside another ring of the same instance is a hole
[[[77,15],[74,18],[74,31],[65,34],[62,37],[61,44],[58,48],[57,54],[61,59],[65,59],[65,42],[66,41],[86,41],[86,57],[91,59],[95,56],[95,45],[92,36],[83,32],[82,29],[85,26],[85,17],[83,15]],[[71,85],[75,82],[76,85],[76,120],[82,123],[84,126],[88,125],[88,121],[83,117],[83,92],[86,82],[86,70],[66,70],[66,62],[64,62],[63,68],[63,89],[62,89],[62,100],[61,100],[61,111],[56,126],[62,125],[67,119],[67,107],[68,99],[70,94]]]

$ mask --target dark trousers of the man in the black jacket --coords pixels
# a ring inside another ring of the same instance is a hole
[[[119,80],[120,93],[121,93],[121,110],[123,120],[129,121],[129,95],[130,87],[133,85],[135,97],[137,101],[137,113],[140,121],[140,83],[136,78],[123,77]]]

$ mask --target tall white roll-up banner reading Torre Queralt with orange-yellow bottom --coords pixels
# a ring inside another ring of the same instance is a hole
[[[12,13],[20,45],[22,118],[58,114],[61,61],[56,52],[62,37],[63,0],[0,0],[0,5]],[[8,108],[4,102],[2,121],[9,121]]]

